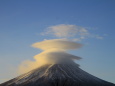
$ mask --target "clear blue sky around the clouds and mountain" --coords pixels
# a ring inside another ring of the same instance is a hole
[[[85,71],[115,83],[115,0],[0,0],[0,82],[16,76],[15,69],[40,50],[31,45],[53,36],[42,36],[47,27],[78,25],[103,39],[87,38],[81,56]]]

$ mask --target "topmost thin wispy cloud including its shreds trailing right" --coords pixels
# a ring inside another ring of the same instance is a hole
[[[72,39],[73,41],[81,41],[86,38],[97,38],[97,39],[104,38],[97,34],[90,33],[90,31],[85,27],[77,25],[66,25],[66,24],[50,26],[47,28],[45,32],[42,33],[42,35],[52,35],[57,38]]]

